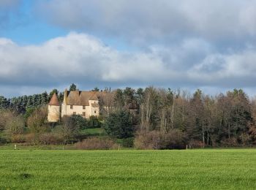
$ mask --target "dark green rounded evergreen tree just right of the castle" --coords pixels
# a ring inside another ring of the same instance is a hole
[[[118,110],[116,113],[110,113],[104,123],[107,134],[116,138],[128,138],[133,136],[135,131],[132,125],[131,115],[124,110]]]

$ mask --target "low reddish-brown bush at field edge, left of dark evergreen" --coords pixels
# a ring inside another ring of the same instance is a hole
[[[92,137],[75,144],[75,148],[83,150],[109,150],[116,147],[117,145],[113,140],[100,139],[97,137]]]

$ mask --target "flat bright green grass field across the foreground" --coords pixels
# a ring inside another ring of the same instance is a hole
[[[256,189],[256,150],[0,150],[0,189]]]

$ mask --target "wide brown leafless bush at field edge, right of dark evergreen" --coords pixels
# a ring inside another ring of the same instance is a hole
[[[183,149],[186,147],[184,134],[176,129],[167,134],[157,130],[140,131],[135,137],[134,144],[138,149]]]

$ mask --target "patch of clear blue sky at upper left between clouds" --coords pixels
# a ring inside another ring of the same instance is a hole
[[[1,37],[12,39],[19,45],[29,45],[67,34],[68,31],[64,28],[45,23],[34,15],[36,2],[23,0],[15,4],[7,13],[10,21],[1,29]]]

